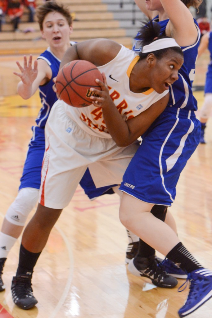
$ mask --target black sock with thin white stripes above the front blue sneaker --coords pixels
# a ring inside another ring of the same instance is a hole
[[[190,273],[198,268],[203,268],[181,242],[168,252],[167,258],[179,264],[180,268],[186,273]]]

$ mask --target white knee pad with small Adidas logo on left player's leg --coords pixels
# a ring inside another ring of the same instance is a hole
[[[15,201],[10,205],[5,218],[8,222],[24,226],[28,215],[38,202],[39,190],[34,188],[21,189]]]

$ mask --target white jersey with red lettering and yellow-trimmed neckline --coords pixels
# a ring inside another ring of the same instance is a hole
[[[119,53],[113,60],[98,66],[99,71],[105,73],[110,96],[125,120],[137,116],[169,92],[166,90],[159,94],[153,88],[144,93],[130,91],[129,77],[138,59],[139,56],[135,52],[121,45]],[[90,105],[76,108],[65,102],[62,105],[65,108],[65,113],[90,135],[112,138],[106,128],[101,107]]]

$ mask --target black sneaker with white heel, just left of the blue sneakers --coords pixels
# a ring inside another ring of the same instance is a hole
[[[149,278],[158,287],[174,288],[178,283],[176,278],[165,272],[164,267],[157,261],[155,255],[148,258],[136,257],[131,259],[128,270],[135,276]]]

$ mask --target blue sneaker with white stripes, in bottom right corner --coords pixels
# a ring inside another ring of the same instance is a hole
[[[185,304],[178,311],[180,317],[193,313],[212,297],[212,272],[209,269],[200,268],[188,273],[188,280],[190,290]],[[182,290],[180,288],[178,291],[182,292],[186,287]]]

